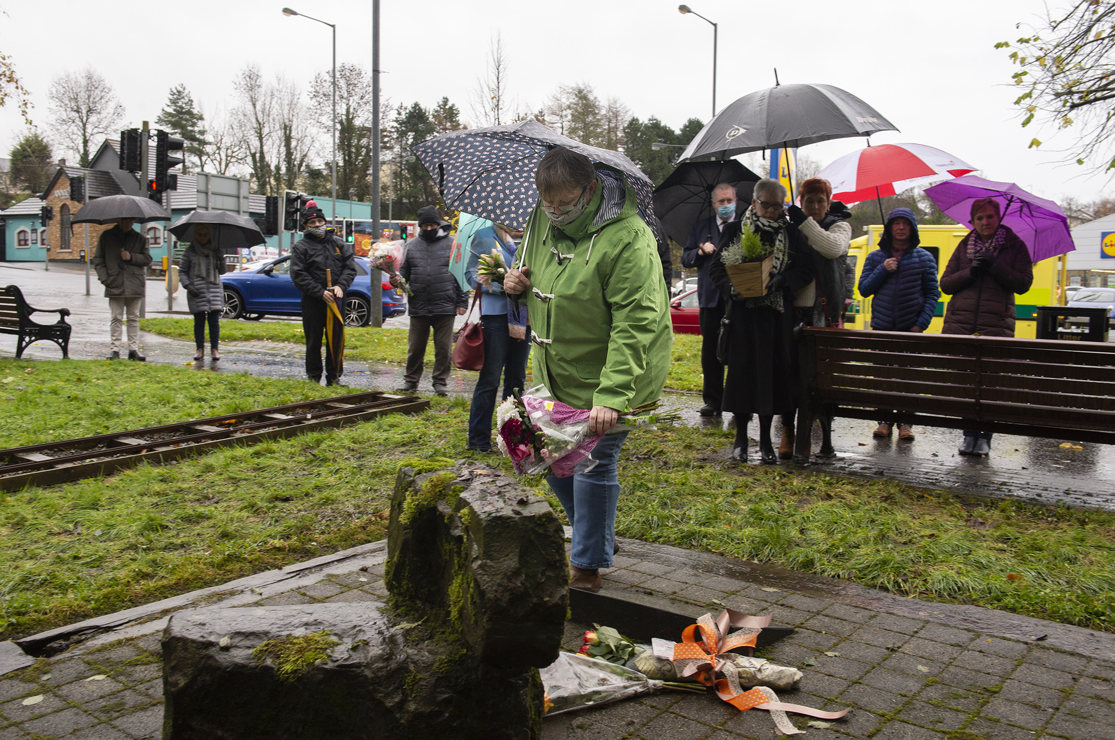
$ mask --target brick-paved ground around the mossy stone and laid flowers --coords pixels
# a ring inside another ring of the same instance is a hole
[[[1061,636],[1054,636],[1058,625],[1045,623],[1050,640],[1069,644],[1083,637],[1076,643],[1080,650],[1057,650],[1005,639],[1005,631],[1020,629],[1021,617],[990,610],[976,615],[987,625],[983,631],[957,629],[947,623],[952,620],[941,605],[883,597],[880,608],[861,608],[849,602],[863,603],[865,590],[833,588],[831,597],[818,598],[808,586],[769,585],[775,583],[769,573],[728,577],[727,558],[690,554],[686,565],[679,564],[683,551],[621,543],[628,555],[618,556],[617,567],[607,575],[610,592],[694,615],[715,612],[723,603],[796,627],[794,635],[760,652],[805,673],[801,690],[780,698],[822,709],[854,708],[828,729],[808,728],[815,740],[1115,739],[1115,635],[1089,637],[1087,631],[1061,626],[1056,632]],[[381,601],[384,555],[382,547],[363,548],[254,592],[226,591],[222,603],[237,607]],[[746,573],[744,565],[734,573]],[[823,580],[808,582],[824,585]],[[213,596],[206,601],[213,603]],[[888,604],[899,604],[905,615]],[[158,738],[163,624],[165,616],[130,625],[0,678],[0,740]],[[1002,630],[996,626],[1000,624]],[[1043,627],[1037,621],[1026,624],[1031,631]],[[582,629],[569,625],[568,648],[580,644]],[[799,727],[806,721],[796,718]],[[738,712],[712,697],[666,693],[549,718],[543,737],[769,740],[775,734],[769,715],[760,710]]]

